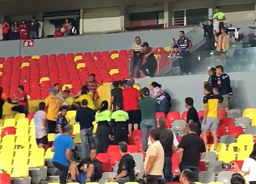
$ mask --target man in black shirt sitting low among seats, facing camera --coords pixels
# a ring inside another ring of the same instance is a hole
[[[90,156],[83,159],[78,165],[76,172],[71,172],[70,175],[75,175],[79,183],[96,182],[102,177],[102,162],[96,159],[97,150],[90,149]]]

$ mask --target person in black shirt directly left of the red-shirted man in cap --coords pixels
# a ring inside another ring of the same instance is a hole
[[[110,110],[115,110],[117,104],[123,108],[123,90],[119,87],[118,81],[113,81],[113,89],[111,90]],[[112,109],[113,108],[113,109]]]

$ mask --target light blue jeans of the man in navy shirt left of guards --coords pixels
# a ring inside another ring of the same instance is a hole
[[[80,130],[80,139],[82,143],[82,158],[87,158],[89,156],[89,150],[87,150],[87,145],[89,144],[90,148],[94,147],[94,141],[92,137],[92,127]]]

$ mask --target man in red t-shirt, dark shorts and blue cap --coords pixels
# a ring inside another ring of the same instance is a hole
[[[124,84],[123,103],[124,111],[129,115],[128,131],[131,135],[133,129],[137,130],[141,121],[141,113],[138,106],[138,101],[141,99],[139,91],[132,87],[132,81],[127,81]]]

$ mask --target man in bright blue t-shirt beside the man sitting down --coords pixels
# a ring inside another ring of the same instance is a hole
[[[76,169],[76,163],[72,156],[72,133],[73,126],[66,125],[64,128],[64,133],[58,136],[51,147],[53,154],[53,165],[59,170],[60,184],[66,184],[68,176],[68,168],[70,166],[70,172],[74,172]],[[71,178],[75,180],[75,178]]]

